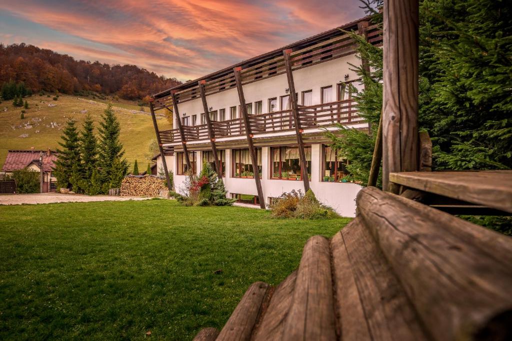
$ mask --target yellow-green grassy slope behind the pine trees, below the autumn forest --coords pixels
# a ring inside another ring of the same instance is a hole
[[[25,98],[29,109],[25,109],[25,119],[20,119],[23,109],[12,105],[12,101],[0,103],[0,165],[4,165],[9,149],[47,149],[55,150],[60,141],[60,135],[67,119],[73,118],[81,129],[88,113],[96,122],[106,107],[106,101],[89,100],[75,96],[60,95],[57,101],[46,96],[34,95]],[[56,104],[49,107],[48,104]],[[121,124],[120,140],[124,146],[126,160],[130,170],[137,159],[139,171],[146,170],[148,147],[155,139],[153,121],[147,107],[145,112],[135,102],[113,102],[114,110]],[[6,110],[7,109],[7,110]],[[163,112],[157,112],[158,126],[161,130],[170,129],[170,123]],[[0,168],[1,169],[1,168]]]

